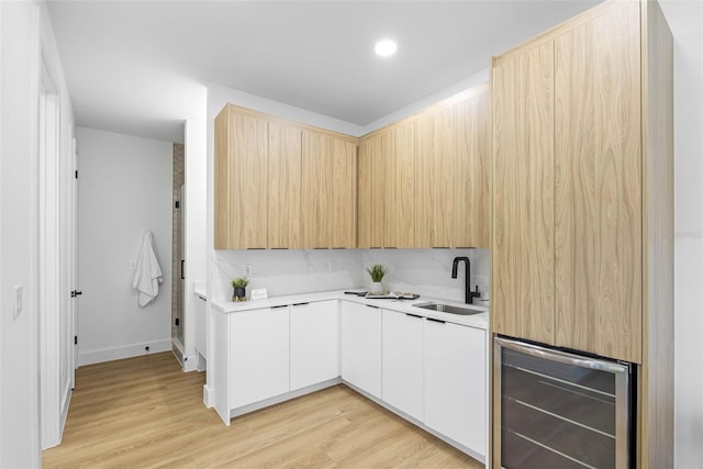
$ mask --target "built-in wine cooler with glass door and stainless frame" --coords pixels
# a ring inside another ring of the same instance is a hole
[[[632,364],[496,336],[494,467],[634,467],[634,372]]]

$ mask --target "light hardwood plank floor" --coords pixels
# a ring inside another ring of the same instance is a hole
[[[79,368],[64,439],[43,467],[483,467],[342,384],[226,427],[203,405],[203,383],[170,353]]]

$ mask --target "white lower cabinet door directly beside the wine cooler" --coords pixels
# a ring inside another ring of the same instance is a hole
[[[486,456],[486,331],[425,321],[425,425]]]

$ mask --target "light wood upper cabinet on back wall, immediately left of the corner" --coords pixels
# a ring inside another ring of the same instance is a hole
[[[356,247],[357,146],[303,132],[303,247]]]

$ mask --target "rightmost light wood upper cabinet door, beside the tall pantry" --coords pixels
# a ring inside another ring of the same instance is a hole
[[[491,93],[489,89],[457,108],[455,247],[489,247],[491,181]]]

